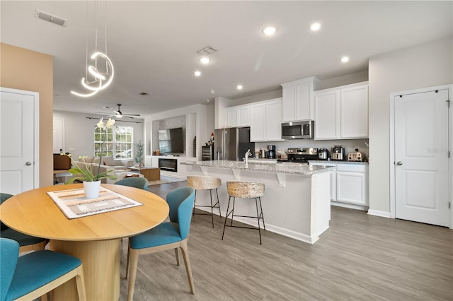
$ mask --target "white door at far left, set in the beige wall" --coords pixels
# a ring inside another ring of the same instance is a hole
[[[1,88],[0,191],[38,188],[38,93]]]

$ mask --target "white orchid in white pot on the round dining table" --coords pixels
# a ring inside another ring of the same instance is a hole
[[[113,127],[113,124],[115,124],[114,119],[108,119],[108,122],[106,124],[103,123],[103,119],[96,124],[96,126],[99,129],[105,129],[105,134],[107,134],[107,129],[110,129]],[[116,179],[116,175],[108,175],[109,172],[112,172],[113,170],[106,170],[105,172],[100,172],[100,167],[101,167],[101,160],[102,160],[102,151],[103,151],[103,146],[105,143],[105,136],[104,135],[104,141],[101,146],[101,157],[99,158],[99,165],[98,169],[96,172],[93,172],[93,165],[91,163],[86,163],[85,158],[88,158],[87,156],[79,156],[79,160],[84,163],[85,168],[81,168],[71,157],[71,154],[68,154],[67,156],[71,158],[72,163],[75,165],[74,168],[71,168],[69,172],[74,175],[71,179],[69,179],[66,184],[71,184],[72,182],[79,180],[84,183],[84,190],[85,190],[85,197],[86,199],[94,199],[99,196],[99,189],[101,187],[101,179]],[[66,155],[66,154],[61,154],[61,155]]]

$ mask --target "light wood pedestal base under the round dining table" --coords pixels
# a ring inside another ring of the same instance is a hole
[[[50,240],[50,249],[75,256],[84,264],[87,300],[119,300],[120,239],[70,242]],[[79,300],[71,279],[52,291],[52,300]]]

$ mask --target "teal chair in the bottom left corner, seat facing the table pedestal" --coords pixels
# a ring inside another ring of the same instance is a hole
[[[86,300],[80,259],[49,250],[19,257],[18,242],[8,238],[0,238],[0,250],[0,301],[35,300],[74,277],[79,300]]]

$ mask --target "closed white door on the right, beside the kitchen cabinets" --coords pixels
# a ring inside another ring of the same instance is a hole
[[[395,217],[449,225],[448,90],[395,98]]]

